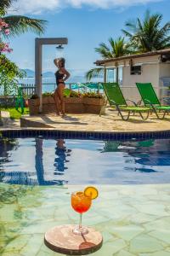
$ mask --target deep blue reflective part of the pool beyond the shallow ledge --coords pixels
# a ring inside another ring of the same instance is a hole
[[[23,185],[170,183],[170,140],[5,138],[0,182]]]

